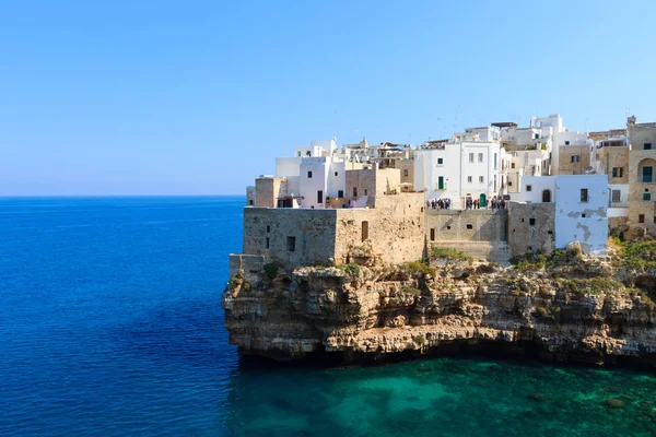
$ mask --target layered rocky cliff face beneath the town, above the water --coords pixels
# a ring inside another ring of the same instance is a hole
[[[436,259],[249,277],[232,277],[222,302],[243,355],[362,362],[487,349],[656,366],[656,277],[573,250],[512,268]]]

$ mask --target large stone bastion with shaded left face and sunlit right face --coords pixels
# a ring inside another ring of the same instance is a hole
[[[378,198],[371,209],[245,208],[243,253],[231,256],[231,270],[269,261],[297,267],[372,257],[419,260],[425,253],[423,204],[421,193],[400,193]]]

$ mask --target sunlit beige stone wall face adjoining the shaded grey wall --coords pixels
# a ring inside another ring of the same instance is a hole
[[[337,217],[337,264],[358,261],[359,255],[394,263],[424,256],[423,193],[383,196],[375,209],[338,210]]]

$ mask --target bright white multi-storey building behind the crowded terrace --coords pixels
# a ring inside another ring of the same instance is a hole
[[[460,140],[464,137],[414,151],[414,189],[425,191],[426,199],[450,199],[454,209],[464,209],[467,199],[484,206],[505,184],[503,151],[499,142]]]

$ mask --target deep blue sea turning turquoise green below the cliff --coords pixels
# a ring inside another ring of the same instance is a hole
[[[651,374],[239,365],[220,302],[243,204],[0,199],[0,435],[656,435]]]

